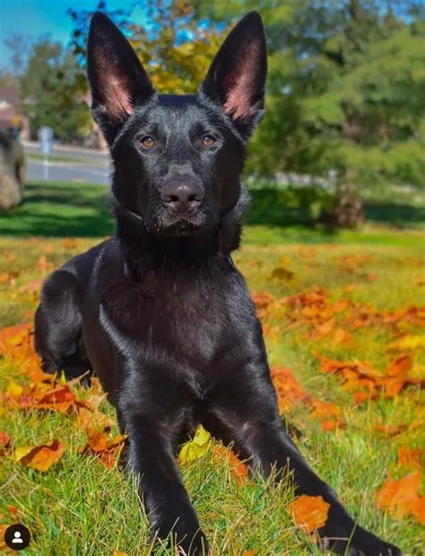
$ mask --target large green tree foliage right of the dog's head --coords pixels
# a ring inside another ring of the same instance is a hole
[[[262,14],[269,47],[267,113],[248,169],[421,185],[423,4],[201,0],[198,13],[227,21],[247,9]]]

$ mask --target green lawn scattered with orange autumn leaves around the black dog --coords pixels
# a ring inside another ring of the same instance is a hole
[[[38,293],[37,287],[25,285],[113,230],[100,186],[36,183],[26,194],[21,207],[0,216],[1,326],[30,321]],[[423,304],[423,235],[417,228],[377,222],[359,233],[326,234],[297,224],[270,227],[260,220],[247,227],[235,260],[251,290],[270,295],[260,312],[271,366],[290,369],[302,388],[315,400],[328,402],[325,407],[336,415],[315,414],[307,402],[294,403],[291,395],[282,395],[284,417],[299,429],[296,441],[308,462],[360,525],[398,544],[405,554],[419,556],[424,528],[414,516],[377,507],[376,493],[388,475],[399,480],[418,472],[416,463],[401,461],[398,452],[425,444],[423,393],[411,385],[395,396],[369,396],[356,403],[353,391],[337,375],[321,372],[314,353],[369,362],[383,372],[404,355],[412,363],[410,375],[425,378],[425,342],[418,340],[421,322],[402,312],[395,322],[394,313]],[[308,295],[298,296],[301,292]],[[411,340],[403,344],[403,338]],[[27,371],[24,358],[4,357],[0,390],[6,393],[9,386],[10,392],[11,382],[28,384]],[[92,395],[80,386],[73,390],[81,400]],[[107,402],[101,402],[100,410],[112,423],[108,437],[113,437],[114,411]],[[151,553],[131,481],[118,465],[107,470],[93,456],[77,453],[86,432],[75,409],[61,413],[5,406],[0,415],[0,429],[13,438],[15,448],[55,438],[65,444],[63,457],[47,472],[13,461],[10,452],[3,458],[0,523],[22,521],[30,527],[33,540],[22,553]],[[324,425],[328,418],[335,419],[330,429]],[[240,480],[227,459],[216,457],[213,445],[181,469],[214,555],[323,553],[294,525],[287,484],[271,488],[261,481]]]

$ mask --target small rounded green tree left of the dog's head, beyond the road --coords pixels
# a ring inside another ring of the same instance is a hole
[[[90,112],[84,100],[85,79],[72,52],[59,43],[40,40],[31,51],[21,85],[31,137],[37,137],[41,126],[53,128],[55,137],[64,141],[87,134]]]

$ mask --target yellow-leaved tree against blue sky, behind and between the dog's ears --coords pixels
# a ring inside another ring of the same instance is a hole
[[[195,93],[227,30],[199,21],[194,4],[186,0],[150,0],[141,6],[143,26],[131,22],[124,10],[108,11],[106,2],[100,2],[98,9],[126,34],[159,93]],[[92,13],[71,10],[70,15],[75,25],[74,54],[83,68]]]

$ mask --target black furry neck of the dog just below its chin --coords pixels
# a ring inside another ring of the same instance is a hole
[[[126,251],[149,254],[158,259],[195,260],[229,257],[239,248],[242,216],[249,196],[242,186],[237,204],[221,217],[220,225],[204,234],[188,236],[159,236],[147,229],[143,217],[126,208],[111,192],[110,200],[116,218],[116,236],[126,246]]]

